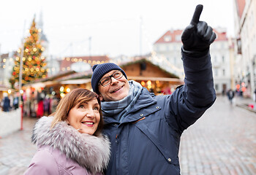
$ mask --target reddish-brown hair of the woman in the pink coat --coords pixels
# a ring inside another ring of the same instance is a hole
[[[61,99],[61,101],[59,101],[59,104],[56,108],[56,112],[50,114],[50,116],[54,117],[53,122],[51,124],[51,128],[53,128],[56,125],[56,123],[60,121],[66,121],[70,109],[75,107],[77,104],[82,104],[86,101],[91,101],[94,98],[97,98],[97,101],[99,103],[100,120],[98,128],[94,133],[94,136],[98,136],[103,128],[102,109],[99,96],[97,95],[97,93],[91,92],[90,90],[84,88],[76,88],[74,90],[71,90],[69,93],[67,93],[66,96],[64,96],[64,98]]]

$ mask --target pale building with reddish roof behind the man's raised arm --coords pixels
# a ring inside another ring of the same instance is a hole
[[[211,44],[211,61],[214,73],[214,86],[217,93],[225,93],[231,88],[230,46],[226,31],[216,28],[217,39]],[[181,61],[182,30],[170,30],[154,43],[151,59],[179,78],[184,78],[183,63]]]

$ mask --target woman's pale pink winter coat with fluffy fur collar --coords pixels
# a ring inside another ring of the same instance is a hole
[[[34,127],[32,141],[38,150],[24,175],[102,174],[110,158],[105,136],[79,133],[66,122],[50,129],[53,117],[42,117]]]

